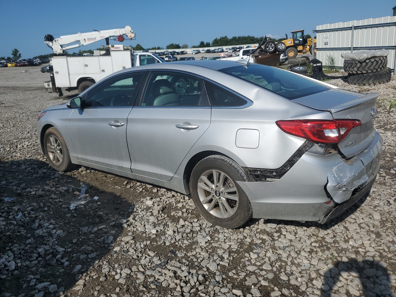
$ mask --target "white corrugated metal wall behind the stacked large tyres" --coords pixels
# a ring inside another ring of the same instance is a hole
[[[388,24],[385,25],[386,23]],[[369,27],[369,25],[375,24],[377,24],[376,27]],[[352,25],[354,26],[353,41]],[[365,25],[368,26],[356,27]],[[316,27],[316,31],[318,31],[316,33],[316,56],[323,62],[323,65],[327,65],[328,56],[333,56],[336,59],[336,66],[343,67],[344,59],[341,57],[341,53],[350,53],[351,46],[353,46],[353,51],[359,49],[388,49],[388,67],[394,68],[396,16],[320,25]]]

